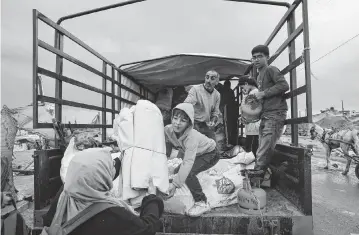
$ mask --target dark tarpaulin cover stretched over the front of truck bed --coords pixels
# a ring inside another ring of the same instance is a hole
[[[215,69],[221,76],[243,75],[249,62],[223,56],[179,54],[139,62],[121,69],[137,82],[156,92],[165,86],[185,86],[203,82],[208,70]]]

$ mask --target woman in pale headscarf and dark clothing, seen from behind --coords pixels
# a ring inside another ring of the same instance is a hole
[[[160,230],[163,201],[154,195],[155,189],[149,190],[149,195],[143,199],[139,216],[126,202],[110,196],[116,175],[114,165],[108,149],[86,149],[74,156],[48,229],[50,234],[56,233],[61,225],[85,208],[101,202],[113,204],[113,207],[96,214],[68,235],[155,234]]]

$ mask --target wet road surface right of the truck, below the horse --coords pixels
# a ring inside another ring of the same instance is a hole
[[[354,164],[348,176],[338,169],[324,170],[325,161],[312,157],[312,202],[315,235],[359,234],[359,179]]]

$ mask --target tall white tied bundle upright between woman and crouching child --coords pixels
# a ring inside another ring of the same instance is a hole
[[[114,120],[114,139],[122,152],[122,167],[115,188],[122,200],[140,206],[147,193],[149,179],[167,194],[169,187],[166,145],[162,114],[147,100],[139,100],[131,109],[123,108]]]

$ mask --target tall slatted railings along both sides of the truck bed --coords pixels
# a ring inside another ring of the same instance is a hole
[[[106,125],[106,112],[112,113],[112,122],[115,118],[115,114],[124,106],[135,104],[134,101],[124,98],[122,93],[127,92],[135,95],[139,99],[150,99],[153,100],[154,94],[143,87],[141,84],[138,84],[135,79],[126,74],[124,71],[115,66],[114,63],[107,60],[105,57],[100,55],[98,52],[93,50],[90,46],[83,43],[81,40],[76,38],[70,32],[66,31],[60,26],[61,22],[64,20],[69,20],[84,15],[93,14],[100,11],[105,11],[117,7],[123,7],[126,5],[143,2],[146,0],[134,0],[134,1],[125,1],[117,4],[112,4],[109,6],[96,8],[68,16],[61,17],[57,23],[51,21],[49,18],[33,10],[33,126],[34,128],[52,128],[51,123],[39,123],[38,122],[38,101],[49,102],[55,104],[55,117],[57,121],[62,121],[62,105],[68,105],[79,108],[86,108],[90,110],[98,110],[102,112],[102,124],[72,124],[73,128],[102,128],[102,139],[106,138],[106,128],[111,128],[112,125]],[[148,1],[148,0],[147,0]],[[278,34],[280,29],[287,23],[288,38],[283,42],[283,44],[277,49],[277,51],[271,56],[269,63],[274,62],[278,56],[288,47],[289,49],[289,65],[281,70],[283,75],[289,73],[290,76],[290,91],[286,93],[285,97],[290,99],[291,103],[291,118],[286,120],[286,124],[291,125],[291,137],[292,143],[298,145],[298,125],[300,123],[310,123],[312,122],[312,99],[311,99],[311,75],[310,75],[310,51],[309,51],[309,25],[308,25],[308,0],[296,0],[292,4],[287,2],[278,2],[278,1],[266,1],[266,0],[225,0],[230,2],[246,2],[246,3],[255,3],[255,4],[266,4],[274,5],[288,8],[284,16],[281,18],[274,31],[271,33],[265,45],[269,45],[275,36]],[[302,4],[302,18],[303,22],[296,27],[295,24],[295,10]],[[38,20],[43,21],[48,26],[52,27],[55,30],[55,43],[54,46],[51,46],[44,41],[38,38]],[[296,56],[295,51],[295,39],[303,34],[304,50],[303,54]],[[97,70],[86,63],[72,57],[69,54],[63,52],[63,40],[64,36],[80,45],[82,48],[99,58],[102,63],[102,71]],[[38,47],[41,47],[49,52],[52,52],[56,55],[56,71],[52,72],[38,66]],[[87,85],[80,81],[77,81],[74,78],[63,76],[63,59],[66,59],[96,75],[102,77],[102,89]],[[296,68],[304,63],[305,68],[305,85],[297,87],[297,73]],[[108,66],[111,69],[112,76],[107,75]],[[256,70],[252,69],[253,75],[256,74]],[[48,97],[38,94],[38,76],[43,74],[45,76],[56,79],[55,85],[55,97]],[[126,86],[124,80],[127,83],[131,84],[132,87],[136,86],[137,89],[130,88],[131,86]],[[107,81],[111,82],[111,92],[107,92]],[[62,99],[62,84],[63,82],[69,83],[78,87],[85,88],[87,90],[102,94],[102,107],[88,105],[83,103],[78,103],[74,101]],[[117,89],[116,89],[117,88]],[[236,88],[237,94],[240,92]],[[307,116],[298,118],[298,101],[297,96],[300,94],[306,94],[306,110]],[[112,98],[112,107],[111,109],[106,108],[106,98]],[[238,99],[238,97],[237,97]],[[116,107],[115,101],[118,101]],[[112,123],[113,124],[113,123]],[[68,124],[65,124],[65,127]]]

